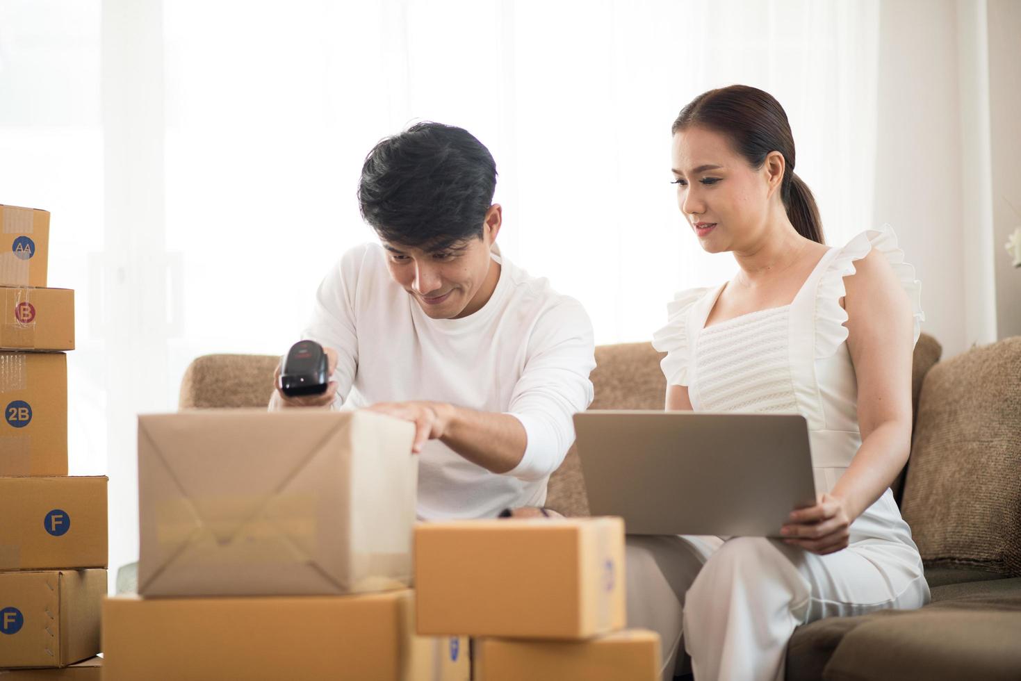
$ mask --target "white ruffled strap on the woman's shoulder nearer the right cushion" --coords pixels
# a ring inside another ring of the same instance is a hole
[[[872,249],[878,250],[893,267],[911,300],[912,317],[915,323],[914,341],[922,333],[922,283],[915,279],[915,267],[904,261],[904,251],[897,246],[896,234],[889,225],[878,230],[867,230],[847,242],[836,256],[830,260],[819,280],[816,289],[816,359],[823,359],[836,352],[847,340],[847,312],[840,306],[840,298],[846,293],[843,278],[855,274],[855,260],[861,260]]]

